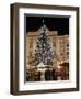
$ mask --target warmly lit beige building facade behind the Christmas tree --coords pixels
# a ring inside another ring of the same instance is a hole
[[[35,53],[36,42],[38,40],[39,33],[27,32],[26,34],[26,68],[30,69],[33,66],[28,64],[31,56]],[[55,54],[53,68],[61,63],[69,63],[69,35],[58,35],[58,31],[48,32],[49,43],[51,45],[53,52]]]

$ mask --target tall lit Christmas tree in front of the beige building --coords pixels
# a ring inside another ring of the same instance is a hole
[[[48,29],[44,24],[39,29],[39,37],[36,42],[35,54],[34,54],[34,63],[38,65],[43,63],[44,65],[53,65],[54,53],[51,50],[51,45],[48,38]]]

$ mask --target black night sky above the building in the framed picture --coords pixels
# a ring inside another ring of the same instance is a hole
[[[49,31],[58,31],[58,35],[69,34],[69,18],[49,16],[26,16],[26,31],[37,31],[42,25],[42,20]]]

